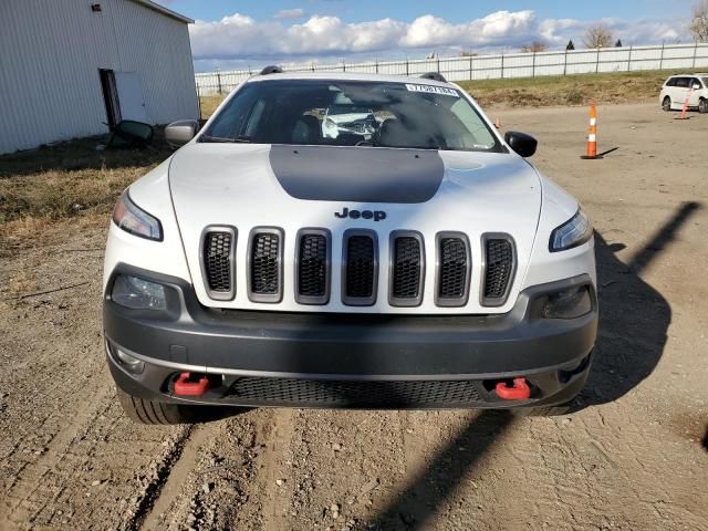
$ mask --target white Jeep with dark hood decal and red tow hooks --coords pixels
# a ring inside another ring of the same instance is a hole
[[[571,400],[597,329],[593,231],[525,160],[535,140],[502,138],[439,74],[274,70],[201,131],[168,126],[184,147],[116,205],[104,330],[128,415]],[[362,118],[324,135],[347,107]]]

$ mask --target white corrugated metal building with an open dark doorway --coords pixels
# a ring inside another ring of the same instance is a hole
[[[0,0],[0,153],[197,118],[192,22],[150,0]]]

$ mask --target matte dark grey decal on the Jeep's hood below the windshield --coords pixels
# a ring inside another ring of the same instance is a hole
[[[273,145],[270,165],[292,197],[320,201],[425,202],[445,174],[421,149]]]

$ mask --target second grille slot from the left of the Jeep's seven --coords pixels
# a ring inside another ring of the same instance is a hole
[[[279,229],[253,229],[249,249],[249,298],[280,302],[282,236]]]

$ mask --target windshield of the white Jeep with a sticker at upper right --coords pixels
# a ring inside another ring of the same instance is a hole
[[[200,142],[503,152],[455,88],[361,81],[247,83]]]

